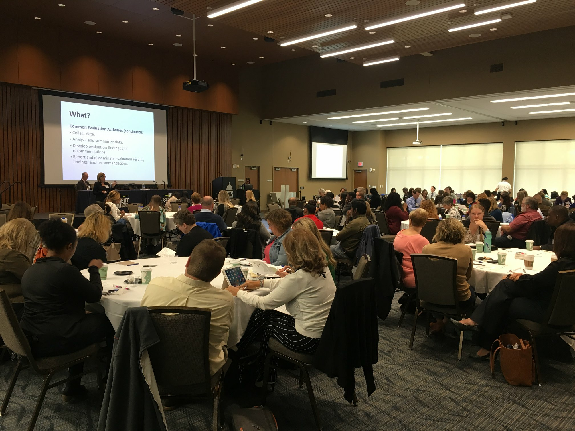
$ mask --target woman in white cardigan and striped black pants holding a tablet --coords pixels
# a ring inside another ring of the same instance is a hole
[[[237,350],[261,340],[260,372],[263,371],[270,337],[296,352],[316,351],[335,295],[336,287],[327,268],[325,253],[311,232],[292,230],[283,240],[283,247],[290,263],[290,267],[282,268],[283,278],[251,281],[227,288],[233,296],[257,307],[246,333],[237,344]],[[260,287],[269,288],[270,294],[259,296],[250,293]],[[291,315],[274,310],[281,305],[285,305]],[[275,378],[275,370],[270,370],[268,382],[273,384]]]

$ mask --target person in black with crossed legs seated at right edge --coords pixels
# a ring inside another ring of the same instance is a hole
[[[528,198],[532,199],[532,198]],[[535,211],[531,211],[534,213]],[[489,359],[494,340],[507,331],[507,322],[527,319],[541,322],[550,305],[559,271],[575,270],[575,224],[563,224],[553,244],[557,260],[538,274],[513,272],[495,286],[467,319],[454,322],[459,329],[477,330],[481,349],[474,359]]]

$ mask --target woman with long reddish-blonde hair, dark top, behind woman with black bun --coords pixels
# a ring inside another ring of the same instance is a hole
[[[82,229],[78,230],[78,244],[70,263],[79,270],[85,270],[94,259],[106,263],[106,251],[102,244],[111,235],[108,218],[100,213],[90,214],[82,223]]]

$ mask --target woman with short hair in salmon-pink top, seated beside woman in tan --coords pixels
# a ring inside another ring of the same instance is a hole
[[[421,228],[427,223],[427,211],[417,208],[409,213],[409,229],[400,230],[393,240],[395,251],[403,253],[401,267],[403,268],[404,290],[410,293],[415,288],[415,274],[413,274],[413,265],[411,255],[421,253],[423,247],[430,242],[427,238],[420,235]]]

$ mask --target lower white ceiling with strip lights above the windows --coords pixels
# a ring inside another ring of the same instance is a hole
[[[535,97],[553,94],[574,93],[570,96],[530,99],[524,101],[514,102],[500,102],[493,103],[493,100],[498,99],[512,99],[520,97]],[[570,102],[566,105],[557,106],[540,106],[531,108],[512,109],[512,106],[525,106],[525,105],[542,105],[546,103],[560,103]],[[381,114],[378,116],[366,117],[353,117],[353,118],[340,118],[337,120],[329,120],[331,117],[352,116],[358,114],[371,114],[386,111],[398,111],[407,109],[428,108],[426,110],[395,113],[395,114]],[[542,113],[530,114],[530,112],[562,110],[562,109],[575,109],[575,86],[569,87],[555,87],[555,88],[539,88],[538,90],[515,91],[513,93],[490,94],[486,96],[462,98],[462,99],[449,99],[443,101],[425,102],[425,103],[411,103],[409,105],[395,105],[395,106],[381,106],[377,108],[370,108],[365,110],[354,111],[340,111],[325,114],[318,114],[312,116],[291,117],[291,118],[269,118],[269,120],[285,122],[290,124],[301,124],[308,126],[320,127],[333,127],[334,129],[343,130],[394,130],[394,129],[415,129],[416,124],[397,125],[407,122],[416,122],[416,119],[405,119],[404,117],[413,116],[430,116],[433,114],[447,114],[444,116],[425,117],[419,118],[420,127],[436,127],[436,126],[449,126],[456,124],[475,124],[487,122],[500,122],[500,121],[521,121],[521,120],[538,120],[540,118],[558,118],[558,117],[575,117],[575,110],[559,113]],[[373,121],[371,120],[388,120],[390,118],[399,118],[399,120],[389,121]],[[469,118],[461,121],[442,121],[425,123],[424,121],[435,120],[449,120],[454,118]],[[354,123],[354,121],[370,122]],[[389,125],[384,127],[377,127],[378,125]],[[393,124],[393,125],[392,125]]]

